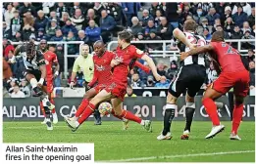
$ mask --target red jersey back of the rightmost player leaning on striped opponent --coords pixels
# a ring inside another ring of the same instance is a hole
[[[225,42],[211,42],[217,61],[220,63],[223,72],[238,72],[246,70],[237,50]]]

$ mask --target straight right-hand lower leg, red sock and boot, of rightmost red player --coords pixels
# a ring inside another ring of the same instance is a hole
[[[243,113],[243,98],[235,96],[235,104],[232,110],[232,129],[230,134],[230,140],[238,140],[241,139],[237,135],[237,131],[242,119]]]

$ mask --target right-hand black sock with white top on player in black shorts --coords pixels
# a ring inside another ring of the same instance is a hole
[[[194,102],[186,102],[185,107],[185,128],[184,131],[188,130],[190,132],[193,116],[195,111],[195,103]]]

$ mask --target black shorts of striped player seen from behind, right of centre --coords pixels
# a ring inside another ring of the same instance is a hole
[[[179,98],[185,92],[189,97],[194,97],[200,90],[206,78],[206,69],[203,65],[189,64],[179,68],[176,79],[169,86],[169,93]]]

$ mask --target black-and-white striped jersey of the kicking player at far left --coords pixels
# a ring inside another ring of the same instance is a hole
[[[19,49],[19,55],[23,57],[26,69],[39,70],[40,65],[45,64],[44,57],[40,51],[35,51],[35,56],[32,59],[28,59],[26,56],[26,46],[22,45]]]

